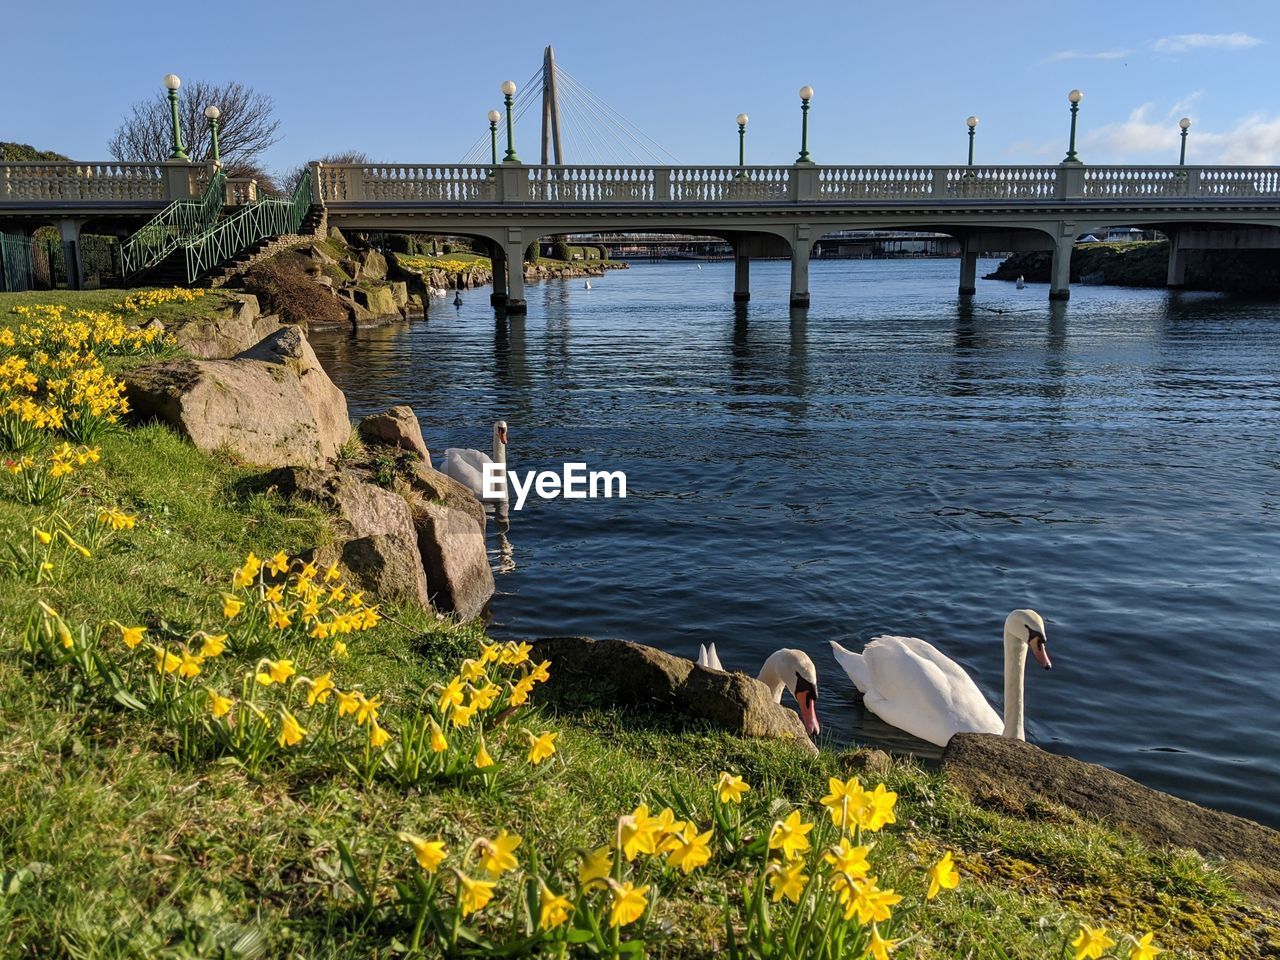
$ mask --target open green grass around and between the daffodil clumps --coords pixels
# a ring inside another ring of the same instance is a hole
[[[0,317],[13,302],[0,297]],[[361,788],[305,768],[251,777],[233,764],[174,760],[155,721],[70,703],[20,655],[18,635],[37,596],[74,621],[196,622],[247,550],[332,540],[325,516],[262,492],[256,479],[159,426],[110,435],[102,462],[76,475],[68,509],[122,506],[138,513],[137,530],[77,559],[51,586],[0,579],[0,957],[221,957],[230,955],[221,946],[247,931],[262,938],[265,957],[396,956],[404,932],[361,919],[338,869],[338,841],[370,870],[397,829],[460,846],[502,826],[540,850],[594,846],[637,801],[705,790],[721,769],[745,776],[756,796],[817,815],[827,777],[861,763],[858,754],[808,756],[663,716],[548,708],[559,753],[504,790],[420,792],[381,781]],[[0,539],[26,536],[40,513],[0,497]],[[481,636],[475,625],[428,612],[389,613],[352,641],[340,682],[380,690],[390,703],[443,678]],[[1059,809],[1034,819],[979,809],[908,762],[883,778],[900,803],[897,826],[874,852],[882,879],[918,893],[920,870],[943,849],[956,851],[963,874],[897,956],[1060,956],[1078,919],[1156,929],[1165,956],[1280,948],[1275,915],[1242,900],[1198,856],[1151,850]],[[388,870],[399,863],[393,850]],[[655,954],[721,948],[718,901],[735,878],[713,865],[666,891],[673,924]],[[383,896],[388,888],[384,881]]]

